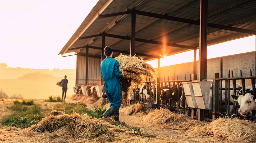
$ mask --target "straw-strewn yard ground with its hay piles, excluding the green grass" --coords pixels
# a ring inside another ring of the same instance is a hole
[[[77,103],[79,99],[72,99],[74,97],[66,99],[66,103],[34,100],[34,105],[39,105],[41,113],[45,114],[43,120],[27,127],[3,126],[1,123],[0,142],[190,143],[256,141],[255,123],[248,121],[217,119],[212,123],[198,122],[165,109],[153,110],[146,115],[140,111],[141,108],[134,105],[122,106],[120,108],[120,122],[115,122],[112,118],[99,119],[101,113],[96,115],[91,112],[91,110],[102,111],[101,109],[104,109],[105,106],[93,103],[87,104],[86,108],[78,108],[74,103]],[[13,101],[15,100],[4,99],[4,101],[0,101],[1,120],[7,115],[18,114],[18,111],[10,109],[13,109]],[[71,105],[77,107],[73,108]],[[108,108],[109,104],[106,106]],[[72,110],[74,110],[73,113]],[[90,110],[90,113],[85,110]],[[61,115],[50,116],[51,111],[57,113],[61,111]],[[80,113],[87,113],[88,116]],[[24,120],[24,118],[18,119],[17,122],[20,120]]]

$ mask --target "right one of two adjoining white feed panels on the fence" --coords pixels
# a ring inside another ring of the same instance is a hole
[[[209,95],[212,81],[192,81],[195,100],[199,109],[212,109],[212,95]]]

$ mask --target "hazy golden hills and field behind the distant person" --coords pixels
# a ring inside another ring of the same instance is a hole
[[[6,92],[9,97],[13,94],[22,94],[25,99],[45,99],[51,95],[62,96],[62,87],[56,85],[56,83],[61,81],[64,75],[67,75],[68,79],[67,96],[74,94],[75,69],[43,69],[41,71],[40,69],[29,69],[25,71],[31,71],[30,73],[22,75],[21,73],[24,73],[24,69],[22,68],[6,68],[5,70],[7,70],[7,73],[5,73],[7,74],[6,77],[11,78],[8,79],[3,76],[3,73],[0,73],[0,75],[2,75],[0,78],[0,89]],[[64,71],[69,71],[70,73],[64,73]],[[0,72],[3,71],[0,69]]]

